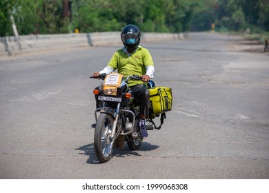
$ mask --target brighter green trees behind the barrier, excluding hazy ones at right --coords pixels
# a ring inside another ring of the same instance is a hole
[[[13,10],[19,34],[74,32],[76,28],[119,31],[128,23],[143,32],[182,32],[189,30],[192,9],[199,0],[73,0],[68,18],[63,17],[63,1],[0,0],[0,25],[5,29],[1,36],[12,35],[8,10]]]

